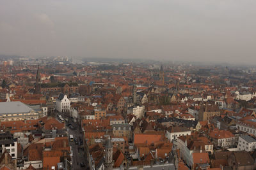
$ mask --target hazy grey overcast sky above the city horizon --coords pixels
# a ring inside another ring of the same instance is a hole
[[[255,0],[1,0],[0,54],[256,62]]]

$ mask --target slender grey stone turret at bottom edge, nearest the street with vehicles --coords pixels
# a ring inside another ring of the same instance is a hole
[[[111,143],[110,137],[108,137],[106,146],[105,146],[105,162],[104,162],[104,167],[106,170],[111,170],[113,169],[113,145]]]

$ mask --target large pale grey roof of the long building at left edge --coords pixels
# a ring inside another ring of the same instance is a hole
[[[29,113],[31,108],[20,101],[0,102],[0,115],[6,113]]]

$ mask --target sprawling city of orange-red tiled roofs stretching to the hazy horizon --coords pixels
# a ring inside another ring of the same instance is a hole
[[[1,57],[0,166],[255,169],[256,67],[74,60]]]

